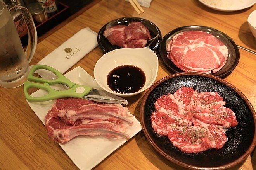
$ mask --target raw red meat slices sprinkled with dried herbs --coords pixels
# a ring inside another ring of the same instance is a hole
[[[221,149],[226,141],[225,128],[235,127],[235,113],[225,107],[216,92],[200,92],[181,87],[172,95],[164,94],[155,101],[151,126],[160,136],[187,153]]]

